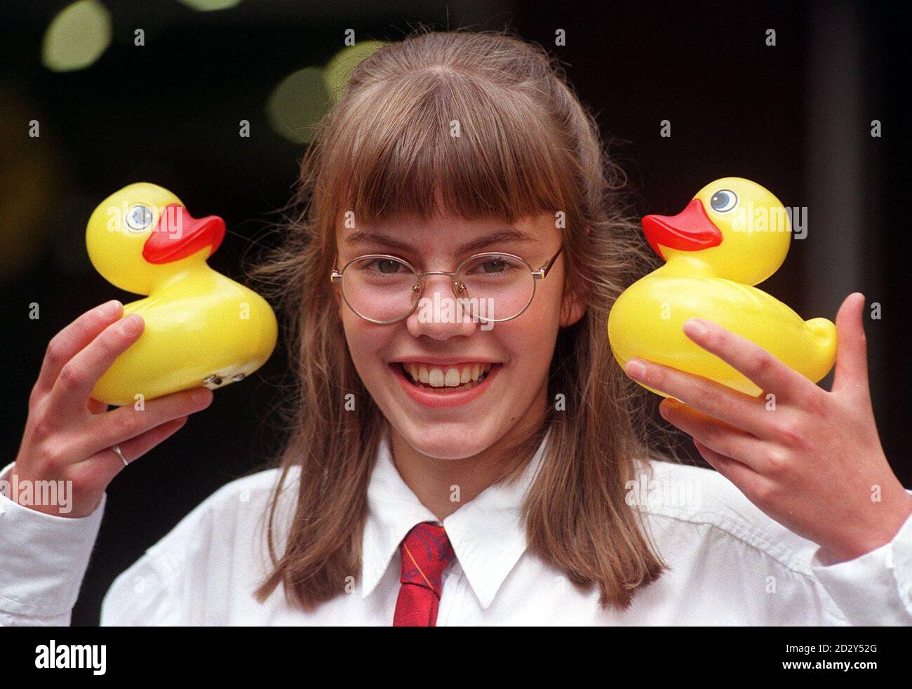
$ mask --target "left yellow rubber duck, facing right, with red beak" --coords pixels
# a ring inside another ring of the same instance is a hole
[[[155,184],[130,184],[98,205],[86,227],[92,265],[111,284],[148,297],[124,305],[124,317],[139,313],[145,329],[92,397],[120,406],[201,385],[214,390],[269,359],[278,334],[273,309],[206,264],[224,233],[222,218],[192,217]]]

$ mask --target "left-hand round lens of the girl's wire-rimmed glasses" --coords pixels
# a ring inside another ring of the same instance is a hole
[[[418,294],[418,276],[395,258],[365,257],[347,266],[342,273],[342,294],[363,318],[395,320],[405,316]]]

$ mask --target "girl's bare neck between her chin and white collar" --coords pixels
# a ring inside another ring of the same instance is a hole
[[[545,380],[529,409],[518,416],[519,421],[513,428],[482,452],[461,459],[439,459],[421,454],[390,426],[393,464],[421,504],[443,521],[503,478],[515,463],[517,448],[542,427],[546,404]],[[523,461],[527,463],[531,458],[524,457]],[[458,486],[458,500],[453,499],[454,486]]]

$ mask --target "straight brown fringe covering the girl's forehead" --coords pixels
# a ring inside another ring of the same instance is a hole
[[[485,80],[435,69],[366,89],[340,109],[322,151],[337,163],[319,181],[322,210],[364,222],[554,214],[570,198],[572,171],[560,133],[536,109],[497,98]]]

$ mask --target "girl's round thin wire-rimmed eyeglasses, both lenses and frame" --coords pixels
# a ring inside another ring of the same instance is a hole
[[[419,272],[397,256],[368,254],[333,269],[329,279],[341,287],[348,308],[371,323],[408,318],[418,306],[428,275],[449,276],[456,308],[485,323],[520,316],[535,296],[535,284],[554,266],[564,246],[544,266],[533,270],[522,257],[501,252],[469,256],[456,270]]]

